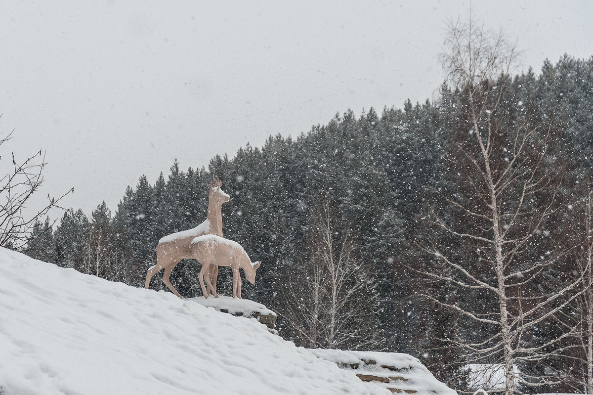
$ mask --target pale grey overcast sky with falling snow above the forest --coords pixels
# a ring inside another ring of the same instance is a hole
[[[474,1],[539,71],[593,55],[591,1]],[[0,3],[0,134],[17,158],[47,150],[42,195],[114,211],[174,158],[208,166],[336,112],[434,98],[449,18],[468,1]],[[2,152],[0,152],[1,154]],[[5,174],[8,157],[0,166]],[[55,216],[61,215],[56,212]]]

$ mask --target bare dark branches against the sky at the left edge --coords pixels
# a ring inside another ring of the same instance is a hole
[[[12,139],[13,132],[0,139],[0,147]],[[74,188],[57,199],[47,195],[47,202],[41,208],[27,210],[31,196],[43,184],[45,154],[40,150],[24,160],[18,160],[14,152],[9,158],[0,157],[0,163],[7,160],[11,162],[7,173],[0,174],[0,246],[21,250],[30,240],[28,234],[36,221],[42,219],[50,209],[59,207],[59,201],[74,192]],[[51,230],[47,228],[46,231]]]

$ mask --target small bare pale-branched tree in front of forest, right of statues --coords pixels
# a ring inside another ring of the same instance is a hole
[[[289,282],[286,320],[310,348],[380,349],[369,267],[356,257],[350,229],[336,224],[326,200],[313,222],[310,259]]]

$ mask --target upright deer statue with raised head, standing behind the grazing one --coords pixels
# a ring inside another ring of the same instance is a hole
[[[222,238],[222,203],[228,202],[230,196],[222,191],[222,182],[218,177],[213,177],[210,183],[210,193],[208,196],[208,216],[206,221],[197,227],[176,232],[167,235],[158,241],[157,245],[157,264],[150,267],[146,272],[146,283],[144,288],[148,289],[152,276],[157,274],[161,269],[165,269],[162,273],[162,282],[168,286],[174,294],[181,298],[177,289],[173,287],[169,281],[169,276],[173,271],[173,268],[177,263],[181,262],[181,259],[192,258],[192,252],[190,251],[190,243],[197,236],[205,234],[215,234]],[[202,267],[203,269],[203,267]],[[216,278],[218,276],[218,266],[208,268],[207,273],[208,281],[213,279],[213,289],[216,292]],[[203,286],[202,286],[203,290]],[[204,294],[206,297],[206,294]]]

